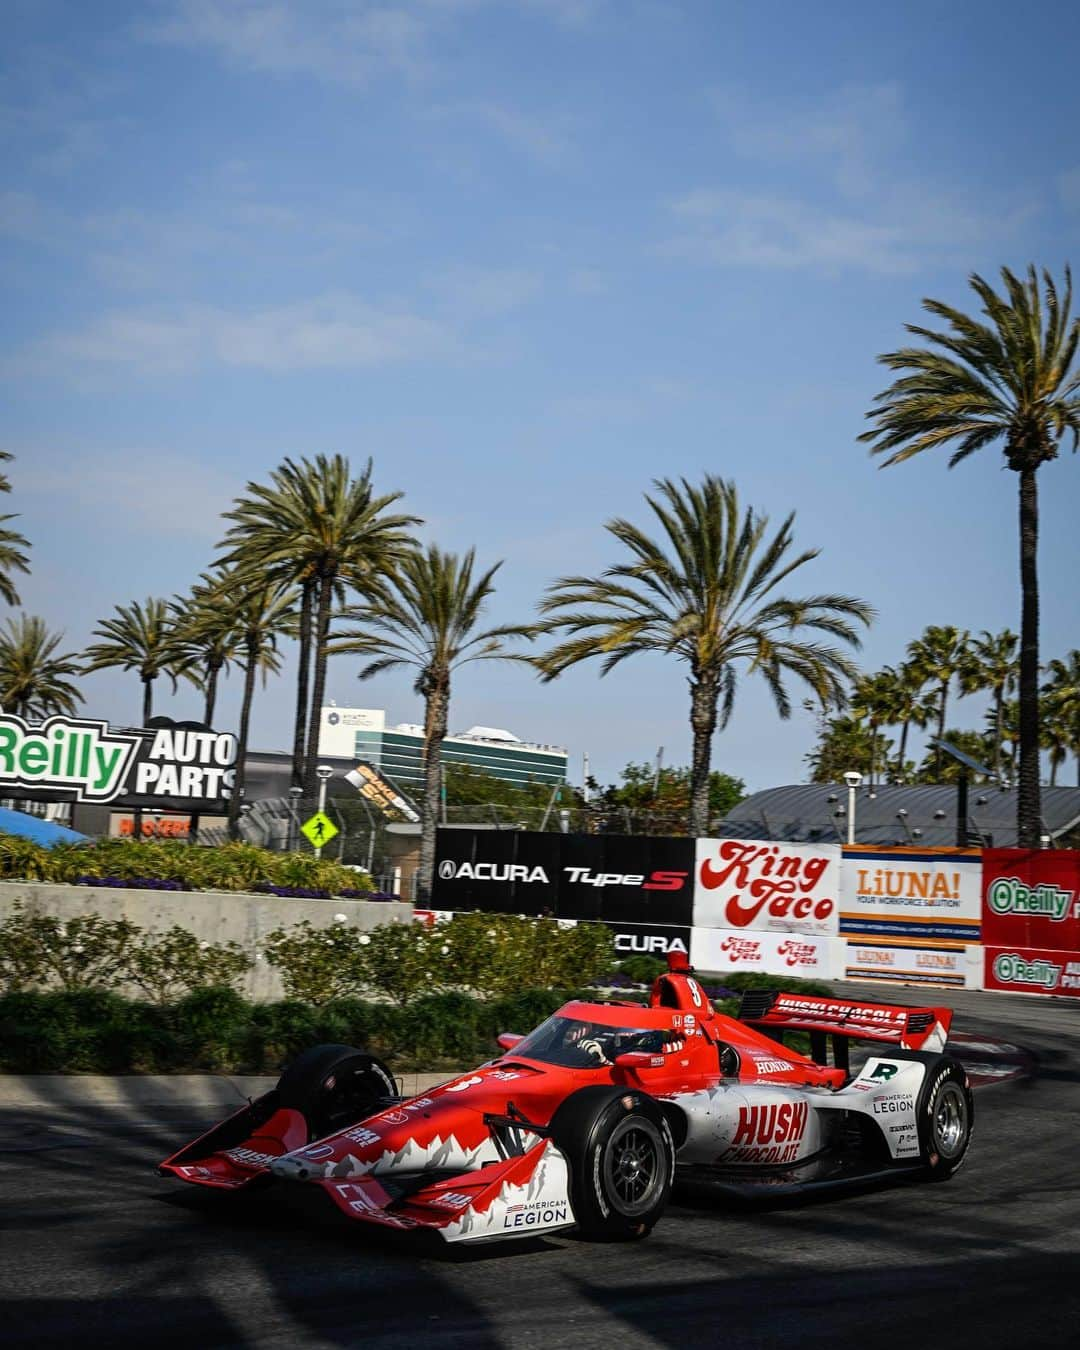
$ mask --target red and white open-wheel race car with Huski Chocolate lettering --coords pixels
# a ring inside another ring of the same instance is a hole
[[[775,1193],[961,1165],[973,1100],[941,1053],[950,1010],[751,991],[732,1018],[668,963],[648,1006],[567,1003],[421,1096],[374,1056],[316,1046],[159,1172],[219,1192],[300,1183],[362,1223],[473,1242],[643,1237],[676,1176]],[[872,1042],[857,1072],[852,1040]]]

